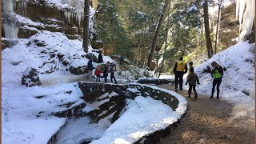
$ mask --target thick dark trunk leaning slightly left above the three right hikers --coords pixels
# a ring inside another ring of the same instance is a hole
[[[213,48],[210,40],[210,26],[209,26],[209,15],[208,15],[208,3],[207,0],[205,0],[203,4],[203,18],[205,23],[205,30],[206,30],[206,46],[207,46],[207,53],[208,58],[211,58],[213,55]]]

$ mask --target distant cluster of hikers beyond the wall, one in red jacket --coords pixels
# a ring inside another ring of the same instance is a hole
[[[102,53],[100,52],[98,54],[98,63],[102,63],[102,62],[103,62],[103,58],[102,58]],[[114,67],[115,67],[115,64],[113,62],[111,63],[106,62],[106,65],[104,66],[104,68],[102,68],[100,65],[97,65],[94,71],[94,75],[96,76],[96,82],[100,82],[101,78],[104,78],[104,82],[107,82],[107,77],[110,73],[111,82],[113,83],[113,79],[114,79],[115,84],[117,84],[118,82],[114,78]],[[88,69],[88,75],[89,75],[88,80],[91,81],[93,78],[93,70],[94,70],[94,66],[92,64],[91,59],[89,59],[89,62],[87,63],[87,69]]]

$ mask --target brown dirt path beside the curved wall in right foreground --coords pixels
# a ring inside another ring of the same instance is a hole
[[[173,86],[158,86],[174,90]],[[187,98],[187,92],[178,91]],[[230,122],[232,105],[221,99],[210,99],[198,94],[194,100],[187,98],[188,109],[180,125],[165,138],[160,138],[160,144],[172,143],[230,143],[254,144],[254,126],[239,126],[238,122]],[[241,121],[240,121],[241,122]]]

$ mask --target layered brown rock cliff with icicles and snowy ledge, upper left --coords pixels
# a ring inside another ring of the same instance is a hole
[[[82,37],[82,12],[68,3],[61,6],[37,0],[6,0],[3,7],[6,7],[2,10],[3,35],[6,38],[30,38],[38,30],[62,32],[68,38]],[[11,30],[8,27],[12,27]]]

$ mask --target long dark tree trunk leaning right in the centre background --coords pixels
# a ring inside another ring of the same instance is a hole
[[[155,46],[157,45],[157,41],[158,41],[158,35],[160,33],[162,22],[163,22],[163,19],[165,18],[165,15],[166,15],[166,9],[169,6],[169,4],[170,4],[170,0],[166,0],[165,5],[162,8],[162,13],[161,13],[159,21],[158,21],[157,29],[155,30],[155,33],[154,33],[154,39],[153,39],[151,49],[150,49],[150,54],[149,54],[149,57],[148,57],[148,60],[147,60],[147,66],[148,67],[150,67],[151,62],[153,60]]]

